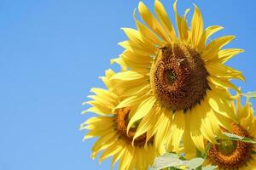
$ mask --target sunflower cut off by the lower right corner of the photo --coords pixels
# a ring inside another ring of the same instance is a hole
[[[253,107],[246,102],[242,107],[240,98],[237,99],[237,121],[231,122],[232,131],[236,135],[256,139],[256,118],[253,116]],[[226,131],[223,128],[224,131]],[[219,139],[218,144],[213,144],[207,156],[207,164],[212,163],[218,169],[256,169],[256,146],[255,144]]]

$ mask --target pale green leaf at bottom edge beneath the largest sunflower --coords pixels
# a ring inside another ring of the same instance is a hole
[[[169,169],[175,169],[180,167],[186,167],[188,169],[195,169],[196,167],[200,167],[203,163],[204,159],[202,158],[194,158],[190,161],[181,160],[176,154],[166,153],[163,156],[157,157],[154,159],[154,170],[160,170],[166,167],[172,167]]]

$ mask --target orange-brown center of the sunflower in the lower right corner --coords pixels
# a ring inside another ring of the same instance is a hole
[[[231,125],[232,133],[242,137],[248,137],[247,132],[239,125],[236,123],[232,123]],[[230,139],[221,139],[218,142],[219,144],[212,145],[208,157],[219,168],[238,169],[252,158],[252,144]]]

